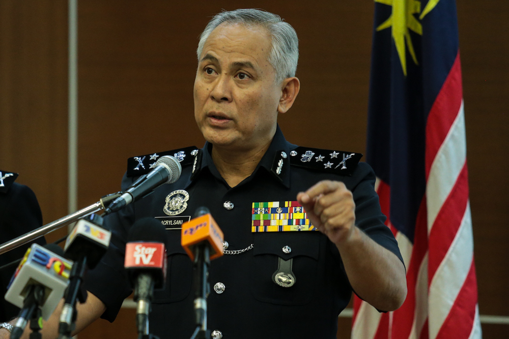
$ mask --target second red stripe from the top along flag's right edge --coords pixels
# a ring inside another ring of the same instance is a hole
[[[456,180],[455,186],[438,212],[429,237],[428,280],[431,284],[435,272],[447,254],[449,246],[456,237],[468,203],[467,164]]]

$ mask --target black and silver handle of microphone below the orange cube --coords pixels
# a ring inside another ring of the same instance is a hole
[[[209,278],[210,249],[206,244],[194,248],[194,281],[196,284],[194,311],[196,329],[191,339],[210,339],[211,330],[207,328],[207,296],[210,286]]]

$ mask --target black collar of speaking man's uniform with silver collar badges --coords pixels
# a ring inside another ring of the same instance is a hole
[[[287,188],[290,188],[290,149],[294,149],[295,147],[297,146],[286,141],[279,125],[277,125],[276,133],[272,138],[269,148],[265,152],[257,168],[246,180],[252,179],[258,171],[265,170],[271,173],[275,180],[281,182]],[[210,171],[216,178],[222,179],[212,161],[211,151],[212,144],[207,141],[195,156],[192,173],[187,180],[186,187],[206,170]]]

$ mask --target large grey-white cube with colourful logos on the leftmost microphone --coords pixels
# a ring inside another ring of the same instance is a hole
[[[41,303],[42,317],[48,320],[64,296],[69,285],[69,274],[72,261],[34,243],[25,253],[18,268],[12,276],[5,295],[5,300],[22,308],[23,301],[29,293],[31,285],[45,286],[45,294]]]

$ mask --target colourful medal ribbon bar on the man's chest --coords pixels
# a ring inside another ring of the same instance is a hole
[[[298,201],[253,202],[251,232],[317,231]]]

